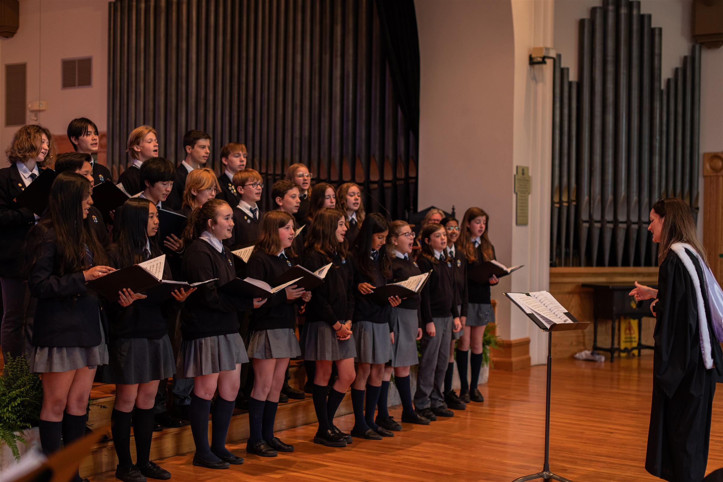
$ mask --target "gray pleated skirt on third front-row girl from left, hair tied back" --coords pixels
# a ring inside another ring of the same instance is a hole
[[[183,340],[176,376],[192,378],[235,370],[237,363],[248,361],[244,340],[238,333]]]

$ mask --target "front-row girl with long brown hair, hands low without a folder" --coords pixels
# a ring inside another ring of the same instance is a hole
[[[351,436],[334,425],[336,410],[355,376],[356,347],[351,332],[354,271],[347,255],[345,234],[346,220],[342,212],[331,208],[318,211],[309,227],[304,257],[304,267],[311,272],[333,263],[324,283],[312,291],[314,296],[307,303],[304,321],[307,330],[304,361],[315,363],[312,397],[319,429],[314,443],[328,447],[346,447],[351,443]],[[338,378],[328,390],[333,363]]]

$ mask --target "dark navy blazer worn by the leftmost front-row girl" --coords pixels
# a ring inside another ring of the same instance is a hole
[[[50,220],[43,220],[30,231],[29,239],[39,239],[35,250],[26,251],[30,266],[27,287],[38,300],[33,326],[33,345],[48,347],[92,347],[100,345],[101,323],[105,313],[93,290],[85,285],[82,271],[59,274],[57,246]]]

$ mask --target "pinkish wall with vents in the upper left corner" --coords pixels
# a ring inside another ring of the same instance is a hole
[[[61,59],[93,56],[93,85],[61,89]],[[20,28],[0,38],[0,147],[17,127],[5,127],[5,64],[27,62],[27,101],[46,100],[48,110],[27,113],[27,122],[64,134],[75,117],[106,130],[108,90],[108,2],[104,0],[21,0]],[[0,165],[7,160],[0,155]]]

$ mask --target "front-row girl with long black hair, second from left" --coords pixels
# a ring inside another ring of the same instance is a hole
[[[158,210],[148,199],[129,199],[116,224],[120,225],[119,237],[108,249],[108,257],[116,270],[161,256],[156,241]],[[163,267],[163,279],[172,279],[168,263]],[[181,304],[195,289],[176,290],[168,300],[150,294],[130,306],[108,306],[110,356],[104,381],[116,384],[111,433],[118,456],[116,478],[121,481],[171,478],[171,473],[150,461],[153,408],[158,382],[176,373],[168,337],[168,315],[174,316],[176,311],[171,305]],[[131,425],[136,445],[135,464],[130,452]]]

